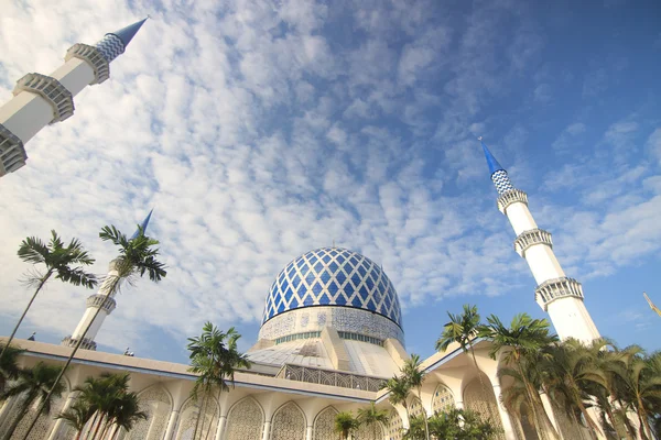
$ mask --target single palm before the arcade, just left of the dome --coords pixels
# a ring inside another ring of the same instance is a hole
[[[187,349],[191,352],[188,371],[199,375],[191,394],[197,400],[199,393],[203,393],[193,440],[197,436],[201,416],[201,432],[204,433],[204,407],[207,395],[217,389],[218,399],[220,399],[220,393],[229,391],[228,381],[234,386],[235,371],[240,367],[250,367],[248,358],[238,351],[237,342],[240,338],[241,336],[234,327],[225,333],[212,322],[205,322],[199,337],[188,338]],[[210,429],[210,425],[208,429]]]

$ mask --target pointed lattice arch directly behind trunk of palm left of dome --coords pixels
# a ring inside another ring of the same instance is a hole
[[[204,402],[203,402],[204,400]],[[203,414],[204,411],[204,414]],[[180,411],[180,419],[176,428],[175,439],[177,440],[191,440],[193,432],[195,432],[195,426],[197,425],[198,432],[203,432],[203,438],[215,436],[216,428],[218,426],[218,415],[220,414],[220,405],[216,397],[207,394],[206,398],[199,396],[197,400],[193,397],[188,397],[182,405]],[[197,418],[199,417],[199,424]]]

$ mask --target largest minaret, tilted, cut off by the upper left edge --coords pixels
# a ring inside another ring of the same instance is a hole
[[[28,74],[17,81],[13,98],[0,107],[0,177],[25,165],[24,145],[47,124],[74,114],[74,97],[110,76],[110,62],[121,55],[147,19],[106,34],[94,46],[76,43],[65,63],[50,76]]]

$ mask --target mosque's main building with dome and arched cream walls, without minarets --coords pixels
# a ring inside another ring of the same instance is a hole
[[[24,366],[39,361],[62,364],[71,351],[18,343],[26,349],[21,356]],[[501,363],[489,358],[489,344],[479,341],[475,349],[479,371],[456,345],[423,362],[427,375],[422,399],[411,396],[411,414],[421,414],[422,408],[427,415],[446,407],[468,408],[484,417],[498,415],[501,439],[537,439],[532,427],[510,418],[498,404],[509,384],[498,378]],[[380,389],[408,358],[397,292],[381,267],[356,252],[323,248],[288,264],[267,296],[259,340],[247,354],[251,369],[236,374],[230,392],[207,400],[198,426],[203,439],[336,440],[335,415],[356,413],[372,402],[391,410],[390,421],[377,429],[361,428],[356,440],[400,440],[408,428],[404,408],[392,407]],[[85,378],[104,372],[130,373],[131,389],[149,414],[120,439],[192,439],[202,408],[191,398],[195,376],[183,364],[82,350],[66,373],[67,392],[52,415],[72,405],[76,395],[72,389]],[[15,399],[4,403],[0,426],[17,416],[15,408]],[[579,438],[579,428],[562,410],[550,413],[564,439]],[[11,440],[22,439],[26,428],[23,421]],[[62,420],[42,416],[29,439],[74,436]]]

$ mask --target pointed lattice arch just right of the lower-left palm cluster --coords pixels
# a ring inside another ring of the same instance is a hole
[[[147,419],[138,421],[124,437],[126,440],[160,440],[167,429],[172,413],[172,395],[158,383],[138,393],[140,410],[147,413]]]

